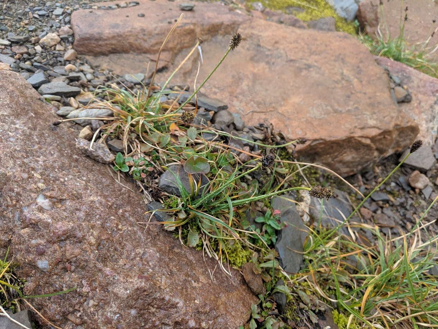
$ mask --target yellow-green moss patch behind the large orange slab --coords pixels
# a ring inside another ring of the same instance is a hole
[[[248,0],[251,4],[259,0]],[[304,9],[303,12],[295,12],[294,15],[301,21],[313,21],[319,18],[333,17],[336,20],[336,29],[357,36],[357,27],[353,22],[347,22],[345,18],[336,14],[336,11],[325,0],[261,0],[266,8],[286,12],[288,7]]]

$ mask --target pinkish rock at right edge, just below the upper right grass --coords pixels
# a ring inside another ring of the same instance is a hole
[[[377,57],[376,61],[410,91],[412,100],[399,103],[399,107],[418,123],[417,138],[432,145],[438,132],[438,79],[389,58]]]

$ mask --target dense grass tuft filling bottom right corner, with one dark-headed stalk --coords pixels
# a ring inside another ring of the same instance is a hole
[[[311,234],[304,248],[307,268],[290,285],[305,281],[308,293],[335,304],[338,311],[334,319],[343,328],[437,327],[438,280],[431,269],[437,265],[438,235],[431,236],[427,229],[436,219],[424,222],[437,200],[410,232],[394,238],[384,238],[377,225],[354,223],[353,230],[348,219],[364,202],[334,229],[309,228]],[[345,225],[350,226],[351,236],[339,233]],[[371,244],[358,229],[371,232],[377,244]]]

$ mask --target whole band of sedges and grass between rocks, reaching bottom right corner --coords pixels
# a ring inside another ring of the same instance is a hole
[[[152,188],[154,198],[162,201],[164,206],[155,211],[166,212],[171,219],[148,224],[175,230],[174,235],[181,243],[216,259],[217,266],[229,275],[231,267],[239,268],[248,261],[254,264],[254,272],[263,279],[266,293],[259,295],[259,303],[252,306],[250,322],[244,328],[289,328],[294,321],[311,327],[318,322],[318,314],[333,308],[330,302],[336,303],[337,322],[345,324],[345,318],[348,318],[347,327],[351,328],[389,328],[389,323],[406,325],[407,322],[415,327],[425,321],[435,325],[438,303],[434,302],[434,295],[438,290],[436,280],[427,276],[427,270],[434,257],[432,243],[438,237],[426,244],[416,237],[420,229],[428,225],[421,223],[427,212],[413,231],[403,238],[384,240],[378,229],[372,227],[378,238],[377,246],[367,246],[340,234],[340,229],[350,225],[350,218],[371,194],[389,179],[410,153],[421,146],[420,142],[413,144],[405,159],[368,196],[363,197],[343,223],[329,230],[309,228],[311,235],[304,250],[307,267],[303,271],[290,277],[281,268],[274,245],[282,225],[276,217],[279,214],[271,211],[266,201],[278,194],[297,190],[307,191],[321,201],[337,196],[325,186],[290,185],[290,178],[302,172],[304,167],[323,168],[316,164],[282,160],[279,158],[281,152],[272,152],[272,149],[283,149],[299,140],[281,145],[246,140],[257,144],[264,155],[239,150],[250,157],[249,161],[242,162],[232,152],[234,147],[223,139],[212,141],[203,136],[208,132],[227,139],[242,138],[194,124],[198,91],[240,42],[241,36],[234,35],[216,67],[181,104],[179,95],[165,103],[160,97],[173,75],[197,49],[199,41],[160,87],[153,84],[154,73],[150,86],[143,86],[136,93],[117,86],[99,88],[96,102],[111,109],[114,117],[105,118],[108,123],[95,133],[92,143],[98,137],[102,142],[108,136],[123,140],[124,152],[117,154],[113,169],[129,173],[141,186],[148,201],[152,197],[146,188],[152,177],[155,179],[170,165],[179,164],[177,172],[173,172],[177,195],[160,193]],[[188,105],[191,99],[194,106]],[[180,179],[183,172],[187,175],[189,188]],[[263,186],[258,186],[257,176],[263,178]],[[202,184],[202,177],[206,177],[208,183]],[[255,218],[255,223],[262,224],[261,229],[257,229],[255,224],[247,221],[245,214],[250,207],[260,203],[258,207],[264,207],[265,212]],[[429,248],[426,253],[424,247]],[[350,256],[357,257],[356,266],[348,262]],[[208,270],[213,275],[215,269]],[[281,312],[276,294],[284,294],[287,299],[286,308]]]

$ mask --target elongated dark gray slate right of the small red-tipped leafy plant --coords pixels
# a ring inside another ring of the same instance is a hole
[[[289,198],[288,195],[283,197]],[[284,199],[272,202],[283,204]],[[303,252],[307,228],[303,224],[295,204],[290,204],[290,206],[284,204],[286,210],[280,215],[281,222],[285,223],[286,226],[278,233],[275,249],[279,254],[281,267],[287,272],[297,273],[303,264],[303,254],[300,253]]]

